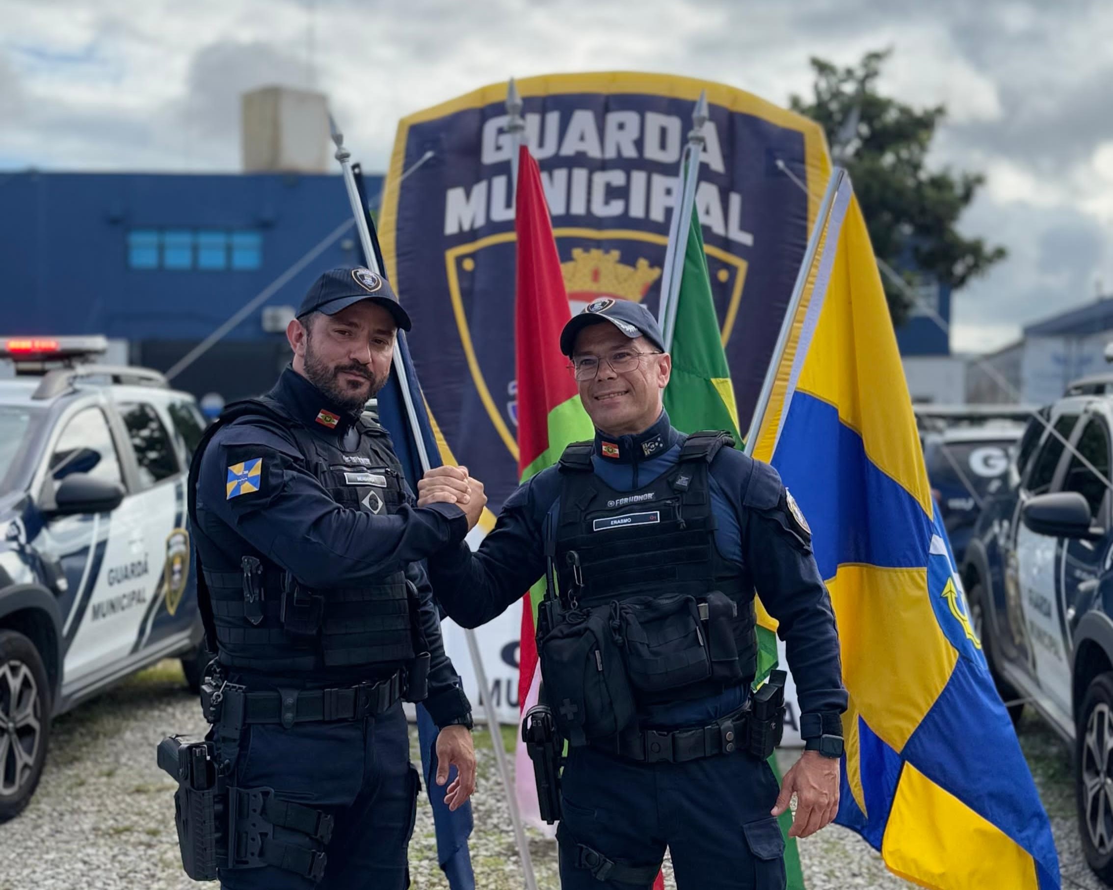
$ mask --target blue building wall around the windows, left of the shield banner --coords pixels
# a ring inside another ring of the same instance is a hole
[[[368,192],[381,181],[368,177]],[[199,340],[345,219],[338,175],[14,174],[0,188],[0,333]],[[204,231],[210,243],[213,233],[244,234],[248,244],[255,233],[258,265],[132,268],[135,231]],[[352,248],[348,234],[268,305],[296,306],[321,270],[356,261]],[[255,313],[228,338],[275,336]]]

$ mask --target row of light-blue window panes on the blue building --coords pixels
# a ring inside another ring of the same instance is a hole
[[[128,267],[132,269],[253,270],[263,266],[263,236],[226,229],[132,229]]]

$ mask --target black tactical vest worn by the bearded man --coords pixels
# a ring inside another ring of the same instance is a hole
[[[229,405],[206,431],[194,454],[189,516],[200,537],[205,535],[197,523],[196,491],[205,447],[217,429],[253,416],[280,423],[294,436],[308,471],[337,504],[383,515],[396,513],[402,505],[402,468],[386,432],[366,415],[356,425],[356,451],[344,452],[313,435],[282,402],[260,396]],[[359,587],[308,590],[246,541],[237,543],[243,550],[239,562],[210,565],[206,560],[198,572],[201,614],[210,645],[215,641],[223,664],[287,673],[363,665],[390,670],[425,651],[416,591],[403,572]],[[223,553],[216,547],[207,550]]]

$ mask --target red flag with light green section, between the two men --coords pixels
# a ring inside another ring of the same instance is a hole
[[[521,482],[525,482],[555,464],[567,445],[594,435],[591,419],[580,404],[575,380],[568,373],[568,359],[560,350],[560,333],[572,312],[541,186],[541,170],[525,146],[519,154],[514,229],[518,233],[514,288],[518,471]],[[523,714],[538,702],[541,675],[534,626],[543,594],[544,580],[541,580],[522,600],[518,701]],[[533,769],[521,734],[518,748],[519,805],[524,818],[540,824]]]

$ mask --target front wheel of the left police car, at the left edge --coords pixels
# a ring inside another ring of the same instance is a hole
[[[50,685],[42,656],[0,631],[0,822],[19,815],[39,784],[50,739]]]

